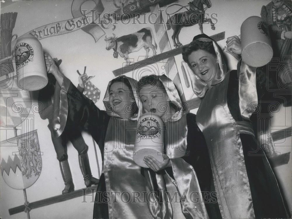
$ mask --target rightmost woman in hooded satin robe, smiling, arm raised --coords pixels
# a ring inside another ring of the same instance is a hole
[[[227,49],[241,54],[238,37]],[[249,117],[257,102],[256,68],[227,71],[223,52],[207,35],[183,49],[194,93],[202,98],[197,124],[210,155],[222,218],[288,218],[276,177],[258,149]],[[253,152],[256,156],[249,155]]]

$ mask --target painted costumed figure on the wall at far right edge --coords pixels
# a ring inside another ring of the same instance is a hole
[[[263,77],[269,77],[268,83],[270,89],[281,89],[282,92],[285,92],[288,95],[290,94],[290,98],[286,98],[284,106],[291,106],[290,88],[292,80],[292,1],[271,1],[269,4],[262,7],[261,17],[268,25],[274,52],[273,58],[279,60],[279,66],[277,68],[277,74],[267,74],[270,70],[270,67],[266,66],[263,66],[263,69],[258,68],[257,71],[259,72],[260,70],[263,70]],[[275,61],[273,63],[275,63]],[[260,72],[259,75],[261,75]],[[268,93],[268,91],[265,91],[265,93]],[[271,94],[268,95],[269,98],[272,99],[274,97],[274,92],[271,92]],[[281,102],[280,99],[277,99],[276,101]]]

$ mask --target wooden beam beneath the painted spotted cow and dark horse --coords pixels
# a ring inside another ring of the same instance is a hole
[[[212,35],[211,38],[214,39],[215,41],[219,41],[219,40],[225,39],[225,31],[224,32],[220,32],[220,33],[215,34],[215,35]],[[116,70],[113,70],[112,73],[114,74],[114,76],[117,77],[119,75],[134,71],[134,70],[142,68],[142,67],[145,67],[147,65],[151,65],[153,63],[162,61],[162,60],[164,60],[166,58],[179,55],[179,54],[182,53],[183,48],[188,46],[188,45],[189,44],[187,44],[185,46],[182,46],[182,47],[178,47],[176,49],[172,49],[172,50],[166,51],[166,52],[158,54],[156,56],[152,56],[152,57],[146,58],[146,59],[144,59],[142,61],[138,61],[138,62],[132,63],[131,65],[123,66],[122,68],[118,68]]]

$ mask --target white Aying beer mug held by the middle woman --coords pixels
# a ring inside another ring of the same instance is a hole
[[[163,161],[164,130],[161,118],[154,113],[145,113],[140,117],[136,132],[133,159],[141,167],[148,166],[143,161],[145,156],[151,155],[159,162]]]

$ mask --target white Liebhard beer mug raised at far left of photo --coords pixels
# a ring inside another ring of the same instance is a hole
[[[44,52],[36,37],[18,38],[14,51],[18,87],[27,91],[45,87],[48,77]]]

